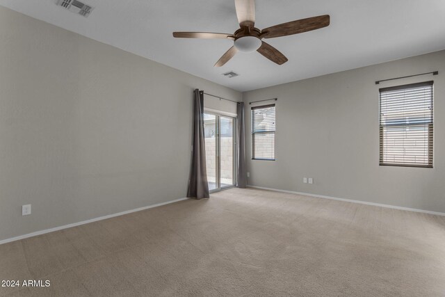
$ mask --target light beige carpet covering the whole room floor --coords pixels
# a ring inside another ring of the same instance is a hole
[[[445,296],[445,217],[233,188],[0,246],[11,296]]]

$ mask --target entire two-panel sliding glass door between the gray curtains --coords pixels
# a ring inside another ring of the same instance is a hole
[[[204,113],[207,181],[209,190],[235,185],[235,118]]]

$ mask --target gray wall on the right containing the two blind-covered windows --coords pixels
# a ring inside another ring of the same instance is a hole
[[[439,75],[374,83],[432,70]],[[435,81],[434,168],[379,166],[378,88],[429,80]],[[246,115],[248,184],[445,212],[445,51],[243,94],[245,102],[274,97],[276,161],[250,160],[249,109]],[[303,177],[314,184],[303,184]]]

